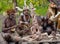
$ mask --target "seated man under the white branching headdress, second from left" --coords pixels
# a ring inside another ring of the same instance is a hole
[[[20,24],[17,27],[17,32],[19,33],[20,36],[29,33],[29,31],[27,29],[29,29],[30,27],[30,13],[29,13],[29,9],[26,7],[25,9],[23,9],[23,13],[21,13],[21,16],[19,18],[18,24]]]

